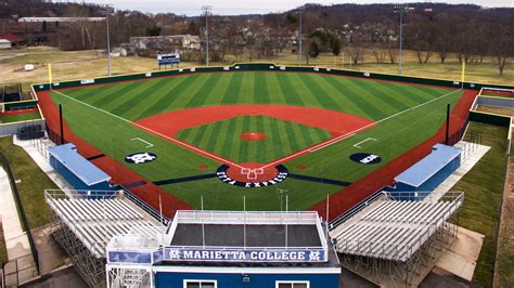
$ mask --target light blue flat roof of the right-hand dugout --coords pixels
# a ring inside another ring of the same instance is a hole
[[[460,154],[460,148],[436,144],[432,147],[431,155],[397,175],[395,181],[419,187]]]

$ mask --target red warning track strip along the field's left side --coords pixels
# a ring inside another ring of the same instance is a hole
[[[49,91],[38,92],[38,97],[39,106],[41,107],[44,118],[47,119],[47,126],[49,130],[53,131],[56,135],[57,131],[60,130],[57,107],[52,102]],[[78,153],[86,158],[102,154],[100,149],[75,135],[66,122],[64,122],[64,139],[66,142],[74,143],[77,146]],[[59,142],[57,139],[52,140]],[[159,207],[160,199],[163,205],[163,213],[166,217],[172,217],[177,210],[191,209],[189,205],[182,202],[166,191],[159,188],[157,185],[147,182],[143,176],[139,175],[108,156],[98,158],[92,160],[92,162],[105,173],[110,174],[114,183],[126,185],[144,181],[144,185],[132,187],[130,191],[154,208]]]

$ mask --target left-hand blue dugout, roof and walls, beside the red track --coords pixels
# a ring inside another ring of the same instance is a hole
[[[63,144],[49,149],[50,165],[76,189],[108,191],[111,176],[80,156],[77,147]]]

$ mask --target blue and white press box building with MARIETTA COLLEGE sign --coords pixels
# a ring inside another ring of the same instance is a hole
[[[178,211],[162,237],[111,239],[107,287],[131,271],[150,287],[336,288],[340,264],[326,235],[317,212]]]

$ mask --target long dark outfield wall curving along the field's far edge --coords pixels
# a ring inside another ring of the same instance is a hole
[[[275,65],[273,63],[242,63],[242,64],[234,64],[231,66],[191,67],[191,68],[179,68],[179,69],[172,69],[172,70],[150,71],[150,73],[142,73],[142,74],[103,77],[103,78],[90,78],[90,79],[82,79],[82,80],[54,82],[51,84],[51,88],[65,89],[65,88],[74,88],[74,87],[81,87],[81,86],[89,86],[89,84],[103,84],[103,83],[112,83],[112,82],[117,82],[117,81],[152,79],[152,78],[157,78],[157,77],[189,75],[189,74],[195,74],[195,73],[255,71],[255,70],[321,73],[321,74],[335,75],[335,76],[349,76],[349,77],[358,77],[358,78],[364,78],[364,79],[401,81],[406,83],[431,84],[431,86],[447,87],[447,88],[454,88],[454,89],[464,88],[464,89],[472,89],[472,90],[480,90],[484,87],[499,88],[499,89],[514,89],[514,87],[506,87],[506,86],[494,86],[494,84],[484,84],[484,83],[474,83],[474,82],[464,82],[464,84],[462,84],[459,81],[450,81],[450,80],[429,79],[429,78],[411,77],[411,76],[388,75],[388,74],[375,74],[375,73],[355,71],[355,70],[342,70],[342,69],[332,69],[332,68],[324,68],[324,67],[283,66],[283,65]],[[34,86],[35,91],[42,91],[42,90],[48,90],[48,89],[50,89],[50,83],[40,83],[40,84]]]

